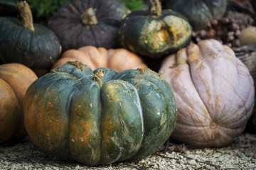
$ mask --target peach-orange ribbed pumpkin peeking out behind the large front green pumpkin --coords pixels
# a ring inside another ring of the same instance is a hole
[[[68,61],[82,62],[92,70],[106,67],[122,72],[125,69],[147,68],[142,59],[129,50],[123,48],[107,50],[104,47],[85,46],[78,50],[65,51],[60,59],[53,64],[52,69]]]

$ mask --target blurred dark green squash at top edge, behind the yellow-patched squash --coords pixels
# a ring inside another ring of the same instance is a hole
[[[166,0],[165,8],[171,8],[186,16],[193,30],[201,30],[206,23],[221,17],[226,11],[227,0]]]

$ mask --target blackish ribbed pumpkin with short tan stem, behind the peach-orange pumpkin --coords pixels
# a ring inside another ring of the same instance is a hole
[[[127,13],[118,0],[74,0],[50,18],[48,28],[58,36],[63,52],[87,45],[114,48],[119,24]]]

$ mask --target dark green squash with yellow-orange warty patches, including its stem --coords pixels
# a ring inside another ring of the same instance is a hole
[[[149,11],[134,11],[124,18],[119,28],[119,45],[151,58],[186,47],[192,35],[186,18],[171,10],[161,11],[159,0],[149,2]]]

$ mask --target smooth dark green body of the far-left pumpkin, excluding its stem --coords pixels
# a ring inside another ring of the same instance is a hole
[[[17,62],[31,69],[48,69],[60,57],[60,42],[55,34],[38,24],[35,31],[21,26],[21,21],[0,17],[0,61]]]

